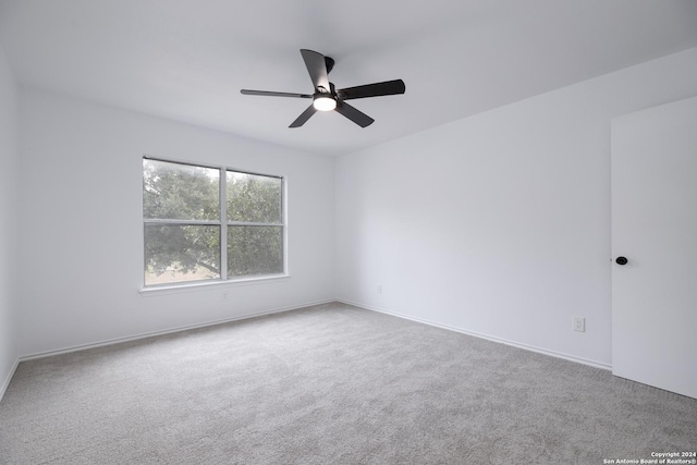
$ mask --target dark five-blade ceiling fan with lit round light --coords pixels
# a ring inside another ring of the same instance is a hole
[[[295,98],[311,98],[313,105],[307,107],[307,110],[303,111],[295,121],[291,123],[289,127],[299,127],[309,118],[315,114],[316,111],[338,111],[343,114],[360,127],[370,125],[375,120],[364,112],[355,109],[345,102],[355,98],[366,97],[381,97],[387,95],[404,94],[406,87],[404,81],[386,81],[383,83],[366,84],[356,87],[346,87],[344,89],[337,90],[334,85],[329,82],[328,74],[334,68],[334,60],[329,57],[325,57],[313,50],[302,49],[301,54],[305,61],[305,66],[309,73],[309,77],[313,81],[315,87],[314,94],[293,94],[293,93],[277,93],[268,90],[240,90],[244,95],[260,95],[268,97],[295,97]]]

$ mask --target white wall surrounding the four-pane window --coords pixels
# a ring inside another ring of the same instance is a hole
[[[334,296],[332,159],[30,89],[20,143],[22,356]],[[292,277],[139,293],[144,154],[288,176]]]

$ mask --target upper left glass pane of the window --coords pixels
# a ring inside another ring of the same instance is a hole
[[[220,220],[220,170],[143,160],[143,217]]]

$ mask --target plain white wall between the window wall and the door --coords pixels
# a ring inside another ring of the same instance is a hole
[[[609,366],[610,120],[694,95],[697,49],[339,158],[338,297]]]

